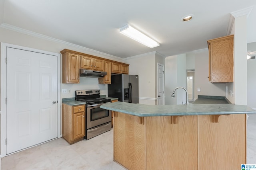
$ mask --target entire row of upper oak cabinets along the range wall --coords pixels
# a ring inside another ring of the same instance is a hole
[[[62,83],[79,83],[80,68],[106,71],[107,75],[104,78],[99,78],[101,84],[111,84],[111,73],[129,74],[129,64],[68,49],[64,49],[60,53],[62,53]]]

